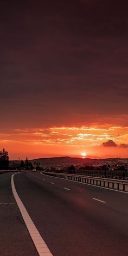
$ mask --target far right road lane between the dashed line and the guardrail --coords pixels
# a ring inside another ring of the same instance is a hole
[[[31,173],[33,176],[33,173]],[[104,189],[98,186],[93,185],[87,185],[86,183],[79,183],[79,182],[73,182],[72,180],[66,180],[66,179],[60,179],[55,178],[53,176],[47,176],[43,174],[43,176],[40,172],[36,173],[35,178],[40,177],[43,179],[45,177],[45,181],[47,183],[54,182],[58,188],[62,189],[62,187],[66,187],[68,189],[71,189],[72,192],[78,192],[80,193],[80,196],[83,195],[83,193],[90,198],[98,198],[101,201],[105,201],[106,203],[109,202],[113,208],[120,211],[120,215],[124,215],[125,213],[128,214],[128,193],[122,193],[120,191],[115,190],[109,190]]]

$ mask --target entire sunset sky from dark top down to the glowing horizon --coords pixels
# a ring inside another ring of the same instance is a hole
[[[0,149],[127,157],[127,1],[1,1]]]

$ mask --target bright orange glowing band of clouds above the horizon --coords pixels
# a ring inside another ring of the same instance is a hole
[[[17,148],[20,152],[23,145],[22,154],[30,154],[31,157],[37,152],[41,154],[40,157],[44,154],[49,157],[49,154],[79,155],[81,151],[91,156],[104,154],[125,157],[128,127],[91,124],[80,127],[18,128],[1,133],[0,138],[0,147],[10,148],[10,152],[14,152],[15,155],[21,154],[16,152]]]

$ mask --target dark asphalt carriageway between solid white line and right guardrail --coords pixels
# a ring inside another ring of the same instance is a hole
[[[128,195],[32,172],[15,186],[54,256],[127,255]]]

